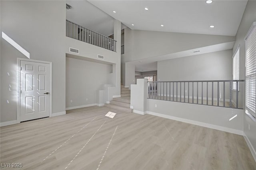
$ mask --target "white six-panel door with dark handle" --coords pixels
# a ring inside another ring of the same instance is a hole
[[[50,64],[20,61],[20,122],[50,116]]]

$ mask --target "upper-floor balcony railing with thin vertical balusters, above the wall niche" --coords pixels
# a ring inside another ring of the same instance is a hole
[[[116,40],[66,20],[66,36],[116,52]]]

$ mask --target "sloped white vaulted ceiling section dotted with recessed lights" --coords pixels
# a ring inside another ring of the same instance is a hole
[[[131,29],[226,36],[236,35],[247,3],[247,0],[213,0],[211,4],[206,0],[88,1]],[[211,25],[215,27],[210,28]]]

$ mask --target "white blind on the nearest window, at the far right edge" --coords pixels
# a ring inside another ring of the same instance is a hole
[[[245,106],[246,112],[256,117],[256,26],[253,24],[252,29],[246,37],[246,92]]]

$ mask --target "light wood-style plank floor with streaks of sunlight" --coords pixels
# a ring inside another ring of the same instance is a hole
[[[256,170],[243,136],[105,106],[0,131],[1,170]]]

